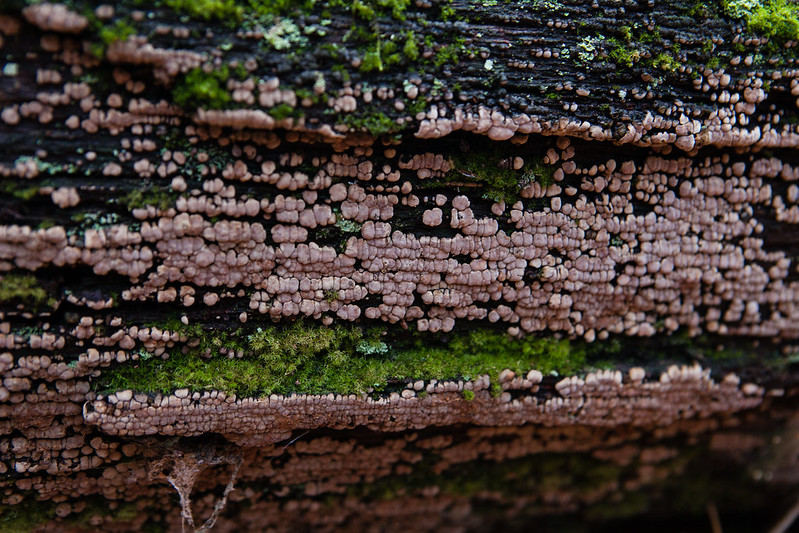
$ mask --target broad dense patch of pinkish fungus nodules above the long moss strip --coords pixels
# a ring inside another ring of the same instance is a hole
[[[146,152],[156,144],[144,139],[129,146]],[[165,154],[158,165],[120,158],[106,163],[103,174],[132,170],[142,177],[171,176],[172,188],[183,196],[166,210],[134,209],[143,220],[135,232],[108,226],[87,231],[83,239],[64,235],[56,242],[42,230],[0,227],[5,245],[0,260],[24,268],[86,264],[98,274],[115,271],[130,278],[123,296],[133,299],[158,298],[159,291],[163,299],[172,283],[211,290],[249,285],[261,295],[250,299],[251,308],[275,317],[321,318],[328,312],[356,317],[359,313],[341,311],[342,306],[359,307],[360,300],[378,295],[382,304],[360,309],[367,317],[392,323],[423,319],[419,326],[433,331],[447,331],[458,320],[487,318],[527,332],[559,330],[588,340],[608,333],[649,336],[657,332],[652,324],[658,320],[666,331],[799,335],[791,318],[797,314],[797,299],[791,296],[797,282],[785,280],[789,258],[766,251],[759,236],[762,223],[751,216],[744,221],[739,214],[771,206],[777,221],[799,222],[799,189],[791,184],[783,194],[774,192],[778,183],[796,179],[789,164],[650,156],[640,168],[614,160],[581,168],[573,146],[562,150],[557,168],[562,175],[555,176],[561,181],[547,187],[534,182],[521,191],[524,199],[546,199],[548,206],[527,210],[517,202],[499,209],[495,204],[480,217],[466,195],[418,199],[405,186],[410,182],[402,181],[403,172],[418,174],[426,164],[431,173],[444,168],[445,160],[433,154],[411,157],[399,169],[390,164],[379,169],[384,179],[396,172],[401,186],[368,184],[376,170],[371,163],[342,154],[312,161],[317,165],[313,178],[291,166],[278,170],[273,161],[260,168],[243,160],[225,169],[206,166],[202,191],[190,189],[180,175],[183,154]],[[284,164],[290,160],[287,155]],[[0,170],[25,178],[39,172],[33,159]],[[221,178],[212,178],[220,172]],[[692,177],[682,177],[687,174]],[[357,182],[339,181],[346,179]],[[576,186],[564,190],[565,180]],[[238,184],[248,181],[301,195],[238,193]],[[589,201],[590,194],[602,196]],[[69,188],[51,196],[62,208],[78,201]],[[414,197],[430,205],[416,215],[418,227],[446,224],[455,235],[394,230],[395,210]],[[633,202],[648,204],[651,211],[636,216]],[[447,205],[445,222],[442,207]],[[222,219],[211,223],[210,217]],[[247,221],[253,217],[262,221]],[[319,228],[344,223],[360,228],[339,251],[313,243]],[[471,259],[453,260],[464,255]],[[156,270],[139,279],[153,265]],[[268,282],[275,275],[290,284]],[[289,302],[295,284],[315,285],[325,278],[343,288],[340,299],[325,302],[323,291],[301,288],[300,301]],[[194,299],[185,301],[191,305]],[[423,310],[420,303],[429,307]],[[778,305],[780,312],[763,314],[769,305]],[[704,314],[697,312],[702,306]]]

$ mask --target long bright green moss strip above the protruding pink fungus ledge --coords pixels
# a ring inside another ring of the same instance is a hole
[[[180,329],[177,324],[162,325]],[[224,390],[245,396],[271,393],[362,393],[389,382],[417,379],[496,379],[505,368],[521,373],[572,373],[585,366],[586,351],[567,340],[515,339],[492,331],[440,337],[407,336],[388,342],[379,330],[357,326],[324,327],[302,321],[288,327],[259,328],[246,333],[185,328],[199,339],[188,353],[169,359],[150,357],[104,372],[103,390],[170,392],[178,388]],[[391,345],[389,345],[389,343]],[[241,358],[219,356],[241,351]],[[199,355],[210,354],[210,358]]]

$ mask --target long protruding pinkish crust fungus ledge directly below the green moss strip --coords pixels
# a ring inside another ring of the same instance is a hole
[[[498,398],[489,394],[487,376],[466,383],[412,382],[401,393],[377,400],[334,394],[237,399],[222,392],[191,395],[188,390],[134,399],[131,391],[121,391],[88,402],[83,417],[112,435],[221,433],[234,442],[262,445],[284,440],[294,430],[322,427],[366,426],[387,432],[454,424],[652,428],[751,409],[763,401],[762,387],[748,383],[739,388],[729,379],[716,383],[699,366],[672,366],[658,381],[646,383],[635,374],[627,384],[620,372],[609,370],[566,378],[557,383],[557,395],[546,399],[533,394],[540,374],[531,371],[522,379],[508,370],[499,376],[506,392]],[[464,399],[464,390],[473,391],[474,399]],[[515,391],[516,398],[507,391]]]

